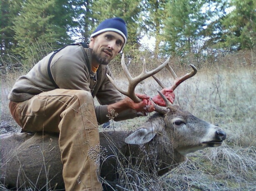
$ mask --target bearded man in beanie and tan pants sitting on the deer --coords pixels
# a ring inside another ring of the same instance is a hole
[[[134,103],[107,78],[106,74],[112,76],[107,64],[126,41],[123,19],[104,20],[92,33],[89,48],[72,45],[50,53],[17,79],[8,96],[10,112],[22,129],[60,133],[66,191],[102,190],[97,177],[99,153],[93,151],[99,148],[97,126],[109,120],[110,111],[119,114],[115,120],[154,111],[148,96],[139,94],[142,102]],[[173,102],[174,94],[164,93]],[[94,96],[100,106],[94,106]],[[159,96],[154,100],[163,103]]]

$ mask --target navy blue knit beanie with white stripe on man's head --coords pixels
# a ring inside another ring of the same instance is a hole
[[[127,28],[124,20],[119,17],[116,17],[116,18],[106,19],[102,21],[99,24],[99,26],[96,28],[96,30],[93,31],[93,33],[91,34],[91,38],[106,31],[117,32],[124,38],[124,44],[121,50],[119,51],[121,52],[127,41]]]

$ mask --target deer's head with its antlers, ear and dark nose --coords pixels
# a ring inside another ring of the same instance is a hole
[[[147,77],[154,77],[162,88],[168,88],[174,91],[182,82],[197,73],[196,67],[190,64],[193,70],[182,77],[177,77],[168,63],[169,58],[156,69],[149,72],[146,69],[144,60],[142,73],[132,78],[125,65],[124,55],[122,55],[121,64],[124,74],[129,81],[128,90],[124,91],[120,89],[115,84],[114,80],[110,76],[108,77],[119,92],[130,97],[134,102],[140,102],[141,100],[136,96],[134,90],[136,85]],[[158,73],[164,67],[166,67],[174,77],[174,83],[170,87],[164,86],[162,82],[154,76],[154,74]],[[196,118],[189,112],[181,110],[178,106],[171,105],[161,92],[159,92],[159,94],[164,99],[167,106],[163,107],[154,104],[155,111],[159,113],[157,117],[150,118],[143,127],[127,136],[127,138],[125,138],[126,143],[135,145],[145,144],[151,141],[157,134],[160,134],[162,135],[164,143],[172,143],[172,146],[174,146],[176,150],[179,150],[182,155],[186,155],[189,152],[194,152],[205,147],[217,147],[226,139],[226,133],[222,131],[221,128]],[[195,136],[196,140],[191,140]]]

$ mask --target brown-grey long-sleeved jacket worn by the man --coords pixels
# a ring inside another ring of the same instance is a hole
[[[34,95],[55,89],[47,72],[49,54],[40,60],[26,75],[19,77],[13,86],[8,99],[13,102],[23,102]],[[122,99],[121,94],[114,88],[107,78],[112,76],[107,65],[99,65],[97,80],[92,73],[92,49],[82,46],[67,46],[52,58],[51,72],[58,87],[62,89],[82,89],[97,97],[100,106],[95,106],[97,121],[102,124],[107,118],[107,105]],[[137,112],[127,110],[117,116],[115,120],[134,118]]]

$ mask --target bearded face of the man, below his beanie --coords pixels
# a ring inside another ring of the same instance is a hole
[[[113,31],[107,31],[91,38],[89,47],[92,48],[92,57],[99,64],[107,65],[117,56],[124,44],[124,38]]]

